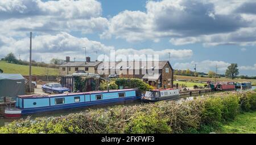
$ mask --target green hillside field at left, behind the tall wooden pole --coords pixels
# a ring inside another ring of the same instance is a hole
[[[29,66],[28,65],[19,65],[6,63],[6,61],[0,61],[0,69],[3,70],[3,73],[20,73],[24,76],[29,75]],[[57,76],[59,75],[59,69],[54,68],[42,68],[42,67],[32,67],[33,75],[46,75],[48,69],[48,75]]]

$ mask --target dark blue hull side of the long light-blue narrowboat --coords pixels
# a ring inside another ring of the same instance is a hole
[[[91,102],[70,103],[65,105],[55,105],[55,106],[47,106],[47,107],[36,107],[36,108],[21,109],[21,110],[22,110],[22,114],[26,115],[26,114],[41,113],[46,111],[73,109],[73,108],[88,107],[88,106],[95,106],[95,105],[109,105],[111,103],[137,101],[140,99],[141,99],[141,96],[134,96],[134,97],[127,97],[127,98],[126,97],[114,98],[114,99],[102,100],[102,101],[91,101]]]

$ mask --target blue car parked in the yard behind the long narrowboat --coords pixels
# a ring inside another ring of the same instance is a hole
[[[70,89],[62,87],[59,83],[48,83],[42,86],[44,93],[64,93],[71,92]]]

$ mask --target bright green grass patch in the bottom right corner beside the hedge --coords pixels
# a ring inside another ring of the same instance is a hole
[[[224,134],[256,134],[256,111],[239,114],[234,121],[223,125],[219,133]]]

